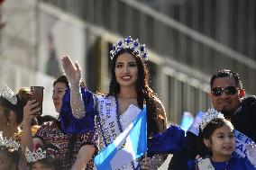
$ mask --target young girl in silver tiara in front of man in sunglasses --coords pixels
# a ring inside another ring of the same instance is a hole
[[[233,125],[214,109],[208,110],[200,123],[199,155],[188,162],[188,169],[255,170],[247,158],[232,157],[235,149]],[[196,167],[195,167],[196,166]]]

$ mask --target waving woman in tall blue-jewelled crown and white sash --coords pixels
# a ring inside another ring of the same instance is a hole
[[[148,138],[157,132],[166,130],[166,115],[163,105],[148,84],[149,72],[146,67],[148,58],[145,46],[129,36],[125,40],[118,41],[117,45],[113,45],[110,58],[112,60],[112,79],[109,93],[95,94],[94,103],[91,104],[88,104],[87,97],[85,97],[90,92],[79,89],[78,86],[81,78],[78,63],[73,65],[69,57],[62,58],[64,71],[71,84],[70,92],[67,92],[64,98],[67,99],[70,95],[73,113],[72,117],[65,112],[67,107],[64,104],[60,114],[60,119],[63,122],[62,127],[72,133],[79,133],[90,128],[87,123],[88,113],[79,110],[79,108],[84,107],[85,103],[87,110],[88,107],[91,107],[92,110],[96,111],[95,130],[98,141],[96,148],[99,151],[112,143],[136,118],[138,113],[128,112],[131,105],[139,110],[142,110],[144,106],[147,107]],[[90,116],[94,117],[95,115]],[[67,123],[67,120],[72,123]],[[96,148],[93,149],[96,150]],[[162,154],[150,157],[141,166],[157,169],[166,158]],[[119,157],[119,160],[121,159],[122,157]],[[118,167],[118,169],[138,169],[140,167],[138,164],[139,162],[133,161]]]

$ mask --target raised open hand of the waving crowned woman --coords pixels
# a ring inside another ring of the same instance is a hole
[[[81,68],[78,65],[78,61],[75,63],[69,58],[69,56],[63,56],[61,58],[64,72],[71,85],[79,85],[81,79]]]

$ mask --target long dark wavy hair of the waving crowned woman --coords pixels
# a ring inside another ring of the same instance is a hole
[[[157,99],[157,95],[154,94],[153,90],[149,85],[149,69],[145,62],[138,56],[133,53],[132,49],[122,49],[120,50],[113,58],[111,65],[111,75],[112,79],[109,85],[109,95],[116,96],[120,93],[120,85],[116,81],[114,68],[115,62],[118,56],[123,53],[129,53],[133,55],[136,60],[136,64],[138,67],[138,79],[137,79],[137,103],[140,108],[143,107],[143,103],[146,103],[147,106],[147,123],[148,123],[148,136],[150,137],[152,134],[159,132],[160,128],[158,126],[158,115],[156,112],[155,100]]]

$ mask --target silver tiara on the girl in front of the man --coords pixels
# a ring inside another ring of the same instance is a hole
[[[202,121],[200,122],[200,129],[204,130],[206,125],[214,120],[215,118],[222,118],[224,119],[224,114],[221,112],[217,112],[215,109],[208,109],[208,111],[203,115]]]

